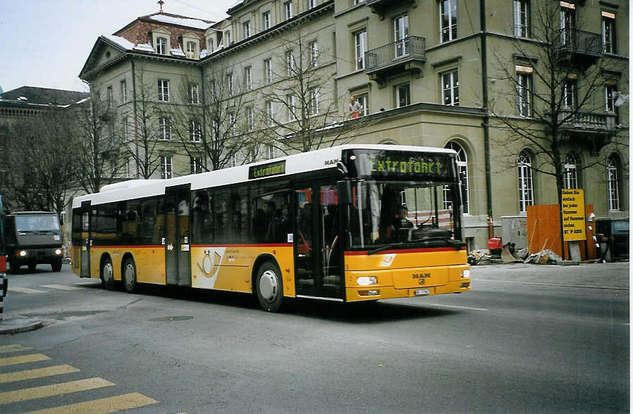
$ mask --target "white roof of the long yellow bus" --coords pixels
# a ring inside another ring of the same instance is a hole
[[[238,184],[240,182],[262,180],[263,177],[252,178],[249,180],[249,168],[257,165],[276,163],[279,161],[285,161],[285,173],[275,175],[275,177],[336,168],[336,161],[340,161],[343,151],[348,149],[455,153],[452,149],[436,148],[431,146],[388,144],[347,144],[332,146],[326,149],[295,153],[289,156],[239,165],[233,168],[224,168],[222,170],[202,172],[200,174],[183,175],[181,177],[170,178],[168,180],[128,180],[125,182],[109,184],[102,187],[101,192],[75,197],[75,199],[73,199],[73,208],[80,207],[82,201],[91,201],[92,205],[98,205],[120,200],[142,199],[150,196],[159,196],[161,194],[165,194],[166,187],[173,187],[180,184],[191,184],[191,189],[197,190],[209,187],[220,187],[228,184]]]

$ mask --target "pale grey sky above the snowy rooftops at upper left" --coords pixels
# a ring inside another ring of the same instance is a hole
[[[0,87],[82,91],[77,77],[94,42],[141,15],[157,0],[0,0]],[[167,13],[226,18],[235,0],[164,0]]]

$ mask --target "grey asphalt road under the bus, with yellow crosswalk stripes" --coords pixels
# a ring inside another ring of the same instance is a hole
[[[0,337],[0,412],[627,412],[628,272],[481,266],[466,294],[272,314],[42,265],[10,275],[5,319],[44,327]]]

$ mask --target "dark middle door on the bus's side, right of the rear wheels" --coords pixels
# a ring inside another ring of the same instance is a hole
[[[191,286],[190,184],[165,189],[166,283]]]

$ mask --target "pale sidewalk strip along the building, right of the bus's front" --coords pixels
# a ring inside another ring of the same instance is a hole
[[[598,289],[629,289],[629,262],[581,263],[577,266],[524,263],[476,265],[470,277],[477,280],[558,284]]]

